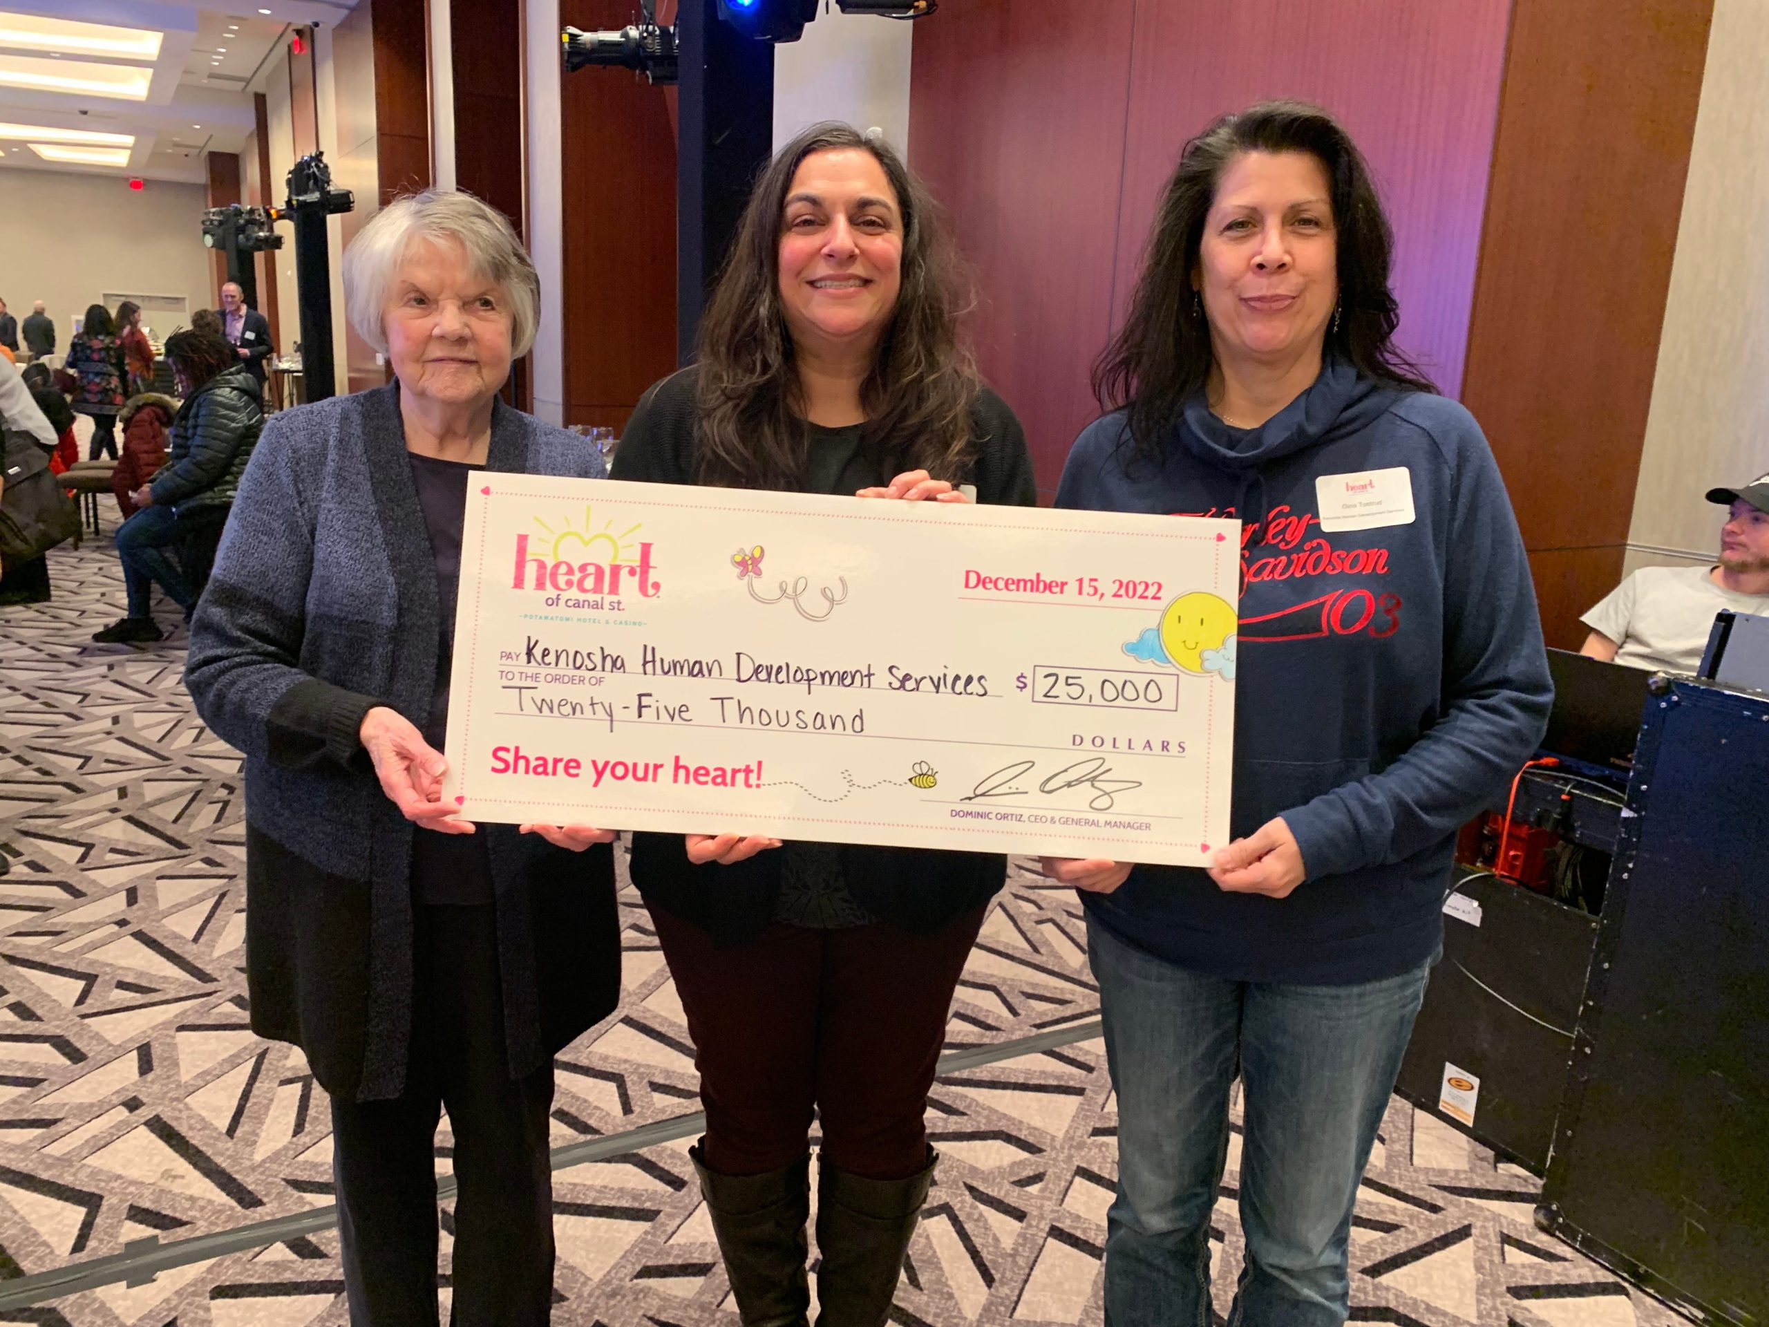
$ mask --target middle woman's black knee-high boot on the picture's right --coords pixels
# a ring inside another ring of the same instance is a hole
[[[817,1327],[879,1327],[939,1155],[906,1180],[869,1180],[817,1162]]]

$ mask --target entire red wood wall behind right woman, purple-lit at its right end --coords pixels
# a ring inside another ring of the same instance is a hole
[[[1182,145],[1267,97],[1318,101],[1359,140],[1398,232],[1401,341],[1458,389],[1509,9],[975,0],[916,25],[909,159],[982,274],[982,366],[1040,487],[1097,412],[1088,368]]]

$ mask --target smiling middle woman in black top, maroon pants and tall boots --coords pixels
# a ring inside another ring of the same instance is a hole
[[[1019,421],[959,341],[957,267],[895,152],[807,129],[750,195],[699,364],[646,393],[614,478],[1031,506]],[[952,993],[1005,858],[639,833],[632,874],[697,1049],[692,1157],[743,1322],[805,1322],[816,1109],[823,1320],[883,1323],[932,1182]]]

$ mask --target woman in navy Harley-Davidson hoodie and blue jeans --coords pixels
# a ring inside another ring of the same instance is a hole
[[[1456,828],[1541,740],[1523,541],[1479,425],[1392,343],[1392,234],[1325,111],[1194,138],[1111,409],[1056,504],[1237,517],[1233,842],[1203,869],[1045,860],[1083,890],[1118,1093],[1106,1322],[1208,1322],[1244,1083],[1229,1322],[1344,1322],[1346,1242],[1426,975]],[[1116,407],[1116,409],[1114,409]]]

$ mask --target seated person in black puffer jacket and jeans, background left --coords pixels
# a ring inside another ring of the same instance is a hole
[[[165,637],[150,610],[156,580],[189,617],[202,593],[189,563],[219,540],[264,428],[258,382],[232,345],[207,333],[179,331],[166,338],[166,359],[184,405],[172,421],[166,464],[131,495],[140,510],[117,531],[129,616],[94,632],[99,644]],[[168,554],[172,547],[180,548],[180,561]]]

